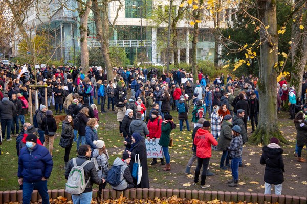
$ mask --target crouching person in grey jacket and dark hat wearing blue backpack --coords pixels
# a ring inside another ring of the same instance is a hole
[[[120,167],[120,183],[117,186],[111,186],[116,191],[124,191],[129,188],[135,188],[134,181],[132,179],[131,171],[129,168],[129,164],[131,161],[131,156],[128,152],[124,152],[122,159],[117,157],[114,162],[113,166],[121,166]]]

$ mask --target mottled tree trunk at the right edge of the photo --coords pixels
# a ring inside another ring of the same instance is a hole
[[[299,8],[303,4],[305,6],[293,15],[295,22],[292,24],[291,33],[291,60],[292,60],[292,71],[291,71],[291,86],[294,86],[296,96],[300,97],[302,94],[302,79],[304,75],[304,69],[307,62],[307,28],[300,29],[300,24],[306,25],[307,18],[307,3],[295,0],[295,7]]]

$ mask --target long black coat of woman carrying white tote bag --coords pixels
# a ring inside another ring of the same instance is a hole
[[[127,144],[127,147],[130,147],[130,144]],[[142,179],[141,183],[137,185],[137,188],[149,188],[149,177],[148,177],[148,166],[147,166],[147,151],[146,145],[143,140],[139,141],[131,151],[131,161],[129,164],[130,172],[132,172],[133,164],[135,161],[135,157],[139,154],[139,158],[142,166]],[[134,183],[136,184],[136,180],[134,179]]]

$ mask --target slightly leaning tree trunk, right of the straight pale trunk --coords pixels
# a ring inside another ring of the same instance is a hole
[[[93,13],[96,25],[96,36],[100,41],[100,48],[104,60],[104,65],[107,73],[107,80],[114,81],[114,74],[109,56],[109,21],[108,21],[108,1],[104,2],[101,6],[98,5],[97,0],[93,0]]]

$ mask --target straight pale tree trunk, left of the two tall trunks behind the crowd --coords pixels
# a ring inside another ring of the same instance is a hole
[[[80,48],[81,48],[81,67],[83,70],[83,73],[87,73],[89,70],[89,49],[87,48],[87,21],[89,20],[89,14],[90,14],[90,8],[88,6],[92,6],[92,1],[87,0],[86,6],[78,3],[78,12],[79,12],[79,18],[80,18]]]

